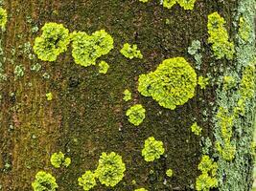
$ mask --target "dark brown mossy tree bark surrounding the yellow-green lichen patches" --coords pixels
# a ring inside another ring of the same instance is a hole
[[[93,190],[124,191],[138,187],[157,191],[195,190],[202,141],[191,132],[190,126],[197,121],[202,127],[202,137],[210,138],[214,144],[218,85],[210,83],[205,90],[198,86],[192,99],[169,110],[151,97],[141,96],[137,79],[139,74],[154,71],[164,59],[176,56],[184,57],[196,68],[195,59],[187,50],[192,40],[197,39],[203,55],[201,69],[196,70],[198,76],[211,74],[214,79],[225,69],[236,68],[236,61],[214,57],[207,42],[207,15],[218,11],[226,21],[230,39],[235,41],[237,28],[233,24],[238,7],[236,0],[198,0],[193,11],[177,5],[168,10],[158,1],[146,4],[138,0],[4,1],[9,18],[6,31],[0,32],[5,58],[2,68],[7,74],[7,80],[0,82],[2,190],[32,190],[31,183],[38,170],[51,172],[57,179],[58,190],[81,190],[78,178],[85,170],[96,168],[102,152],[111,151],[121,155],[126,163],[125,177],[111,189],[98,183]],[[84,68],[75,64],[71,47],[56,62],[30,59],[33,50],[26,53],[24,44],[33,45],[41,32],[32,29],[35,26],[40,29],[46,22],[62,23],[70,32],[105,29],[111,34],[114,49],[99,59],[109,63],[107,74],[99,74],[94,66]],[[143,59],[124,57],[120,50],[126,42],[137,44]],[[31,71],[37,62],[42,69]],[[25,67],[24,76],[15,76],[17,65]],[[45,77],[47,74],[49,78]],[[129,102],[123,100],[127,88],[132,92]],[[53,94],[51,101],[45,96],[49,92]],[[146,109],[146,118],[135,127],[128,122],[126,111],[137,103]],[[247,117],[249,125],[243,123],[251,129],[252,113]],[[164,142],[165,155],[146,162],[141,150],[144,140],[151,136]],[[72,159],[69,168],[55,169],[51,165],[50,157],[58,151]],[[212,148],[210,154],[214,152]],[[244,180],[237,180],[244,185],[244,189],[238,189],[241,191],[249,190],[252,183],[252,156],[246,159]],[[174,171],[172,179],[165,174],[169,168]],[[132,180],[136,183],[132,184]]]

